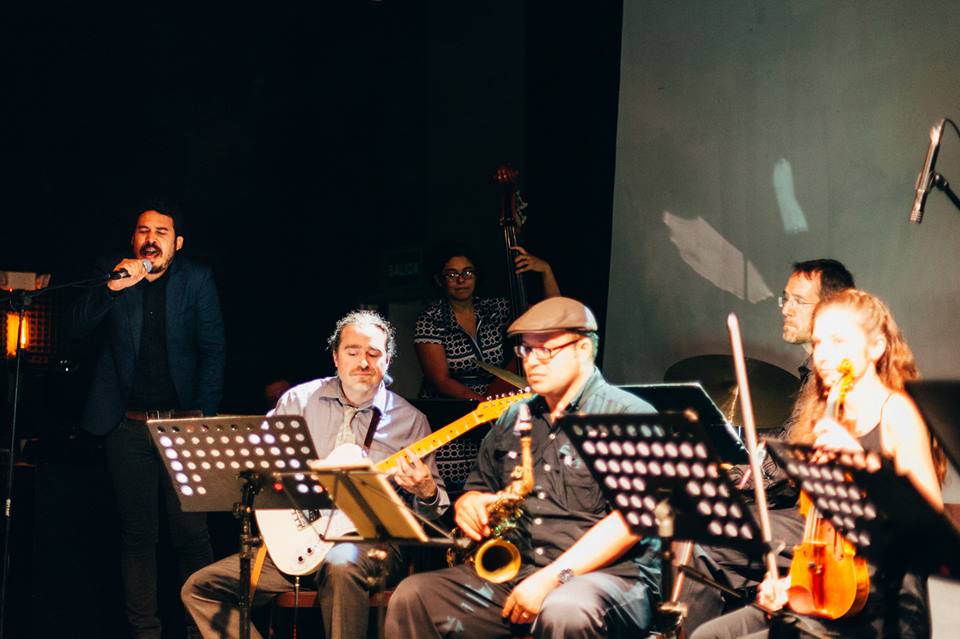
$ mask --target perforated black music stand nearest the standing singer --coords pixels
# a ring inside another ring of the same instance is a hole
[[[250,637],[250,562],[260,545],[253,535],[258,507],[289,508],[282,490],[262,491],[278,471],[307,471],[316,459],[307,423],[299,415],[151,419],[153,438],[184,512],[232,511],[240,531],[240,637]],[[308,508],[329,508],[330,499],[301,475],[293,488]],[[237,494],[240,493],[240,501]]]

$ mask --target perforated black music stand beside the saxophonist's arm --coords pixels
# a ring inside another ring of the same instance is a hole
[[[673,590],[674,539],[731,546],[748,555],[768,551],[693,413],[568,415],[558,423],[630,530],[660,538],[663,596]],[[674,636],[684,614],[682,604],[661,604],[656,633]]]

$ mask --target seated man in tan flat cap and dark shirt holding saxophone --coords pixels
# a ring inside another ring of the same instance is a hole
[[[531,389],[535,488],[523,502],[519,574],[503,583],[460,565],[408,577],[387,610],[388,637],[636,636],[659,599],[659,541],[632,535],[604,499],[556,419],[566,413],[653,413],[608,384],[594,365],[597,322],[576,300],[552,297],[507,329]],[[464,534],[490,532],[487,508],[520,463],[513,432],[521,404],[490,429],[455,505]]]

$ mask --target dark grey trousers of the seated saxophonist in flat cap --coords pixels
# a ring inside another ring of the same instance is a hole
[[[651,624],[651,605],[642,581],[594,572],[550,592],[532,628],[513,625],[500,613],[520,581],[492,584],[467,565],[407,577],[390,599],[386,636],[492,639],[529,632],[537,638],[556,639],[639,637]]]

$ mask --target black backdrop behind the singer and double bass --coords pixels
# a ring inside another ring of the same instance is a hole
[[[394,373],[413,393],[411,322],[435,291],[386,273],[467,240],[482,293],[501,294],[492,176],[509,162],[527,248],[602,322],[620,19],[619,2],[11,7],[0,270],[77,277],[128,245],[138,200],[169,197],[189,216],[185,254],[220,288],[224,410],[262,409],[276,377],[331,372],[325,338],[358,304],[400,324]],[[90,344],[76,346],[82,378]],[[75,416],[72,387],[57,405]]]

